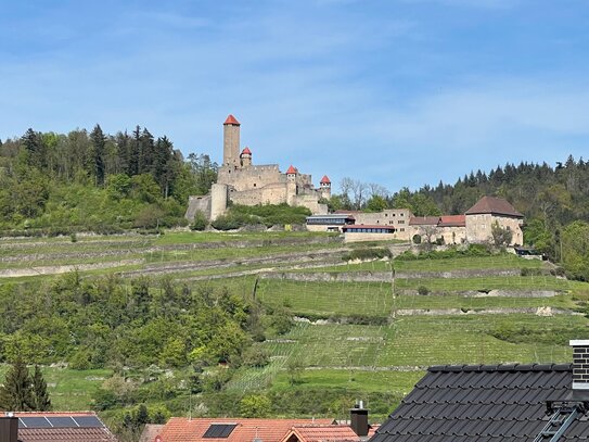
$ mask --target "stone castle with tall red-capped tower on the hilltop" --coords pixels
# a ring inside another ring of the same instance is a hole
[[[240,122],[229,115],[223,123],[223,162],[217,182],[206,195],[190,197],[185,217],[202,212],[209,220],[226,213],[229,202],[242,205],[282,204],[307,207],[313,215],[326,214],[321,199],[331,198],[331,181],[323,176],[316,189],[311,176],[294,166],[281,173],[278,164],[254,165],[249,148],[240,148]]]

